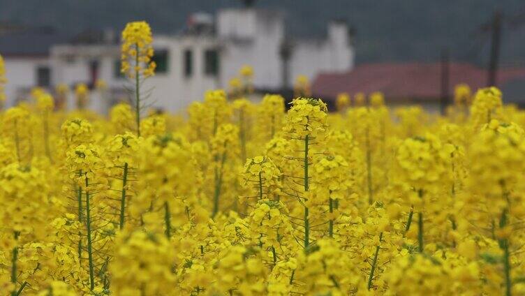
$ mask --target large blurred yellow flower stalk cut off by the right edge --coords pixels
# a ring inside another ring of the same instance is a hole
[[[490,97],[494,92],[494,89],[478,91],[475,99],[478,107],[485,96]],[[471,177],[468,185],[480,199],[468,200],[468,206],[474,212],[482,209],[487,213],[475,223],[490,225],[487,229],[491,229],[491,236],[497,240],[502,253],[499,260],[503,265],[501,286],[505,295],[510,296],[517,285],[517,281],[512,279],[513,251],[517,252],[522,247],[515,242],[521,236],[519,230],[522,229],[521,164],[525,160],[525,132],[517,124],[492,119],[475,136],[469,152]]]

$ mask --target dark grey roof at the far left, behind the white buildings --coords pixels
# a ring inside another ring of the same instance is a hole
[[[51,45],[66,43],[69,36],[50,28],[24,29],[0,34],[0,54],[4,57],[42,57]]]

